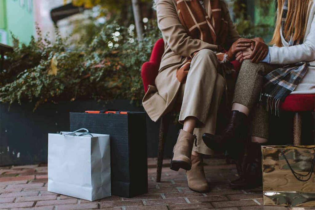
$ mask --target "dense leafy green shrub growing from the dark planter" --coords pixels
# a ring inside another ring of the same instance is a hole
[[[108,21],[90,43],[80,46],[67,44],[58,29],[54,43],[38,28],[39,38],[27,46],[19,47],[14,39],[14,52],[7,57],[11,65],[1,74],[1,102],[36,101],[36,109],[47,101],[141,99],[141,65],[161,35],[155,21],[147,24],[141,43],[133,30],[133,25]]]

